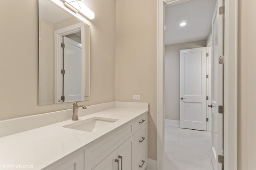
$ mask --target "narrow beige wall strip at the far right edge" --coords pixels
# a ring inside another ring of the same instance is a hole
[[[256,170],[255,8],[255,0],[238,0],[238,170]]]

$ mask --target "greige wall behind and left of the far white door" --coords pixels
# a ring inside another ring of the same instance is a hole
[[[164,112],[165,119],[180,120],[180,50],[205,47],[206,40],[165,45]]]

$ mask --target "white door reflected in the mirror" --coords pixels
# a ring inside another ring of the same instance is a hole
[[[63,37],[64,48],[64,96],[65,102],[81,100],[82,45]]]

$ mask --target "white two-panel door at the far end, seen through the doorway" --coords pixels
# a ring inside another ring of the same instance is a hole
[[[180,50],[180,127],[206,130],[206,47]]]

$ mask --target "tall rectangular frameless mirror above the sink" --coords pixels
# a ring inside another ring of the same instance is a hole
[[[38,0],[38,105],[90,100],[90,26]]]

